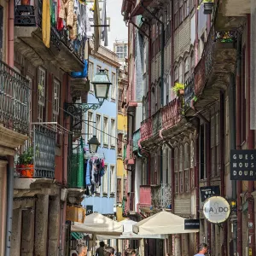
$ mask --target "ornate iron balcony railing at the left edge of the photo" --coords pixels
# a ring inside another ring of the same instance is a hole
[[[0,122],[7,128],[27,134],[29,126],[28,80],[0,61]]]

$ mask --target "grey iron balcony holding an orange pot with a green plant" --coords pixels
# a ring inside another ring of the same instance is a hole
[[[56,132],[44,125],[33,125],[32,143],[20,148],[16,177],[55,178]]]

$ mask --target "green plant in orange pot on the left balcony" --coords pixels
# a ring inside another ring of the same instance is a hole
[[[16,166],[17,172],[21,177],[33,177],[34,165],[33,165],[33,153],[34,148],[29,147],[19,155],[18,165]]]

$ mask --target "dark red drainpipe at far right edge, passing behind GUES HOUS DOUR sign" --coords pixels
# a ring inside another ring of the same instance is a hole
[[[251,95],[251,15],[247,15],[247,67],[248,68],[248,138],[247,138],[247,148],[254,149],[254,131],[250,129],[250,95]],[[252,102],[253,104],[253,102]],[[252,192],[254,189],[254,182],[248,182],[248,240],[249,240],[249,250],[251,250],[251,255],[255,255],[255,221],[254,221],[254,199]]]

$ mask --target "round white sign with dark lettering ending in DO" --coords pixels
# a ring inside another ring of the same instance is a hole
[[[230,203],[222,196],[212,196],[205,201],[203,213],[209,222],[223,223],[230,217]]]

